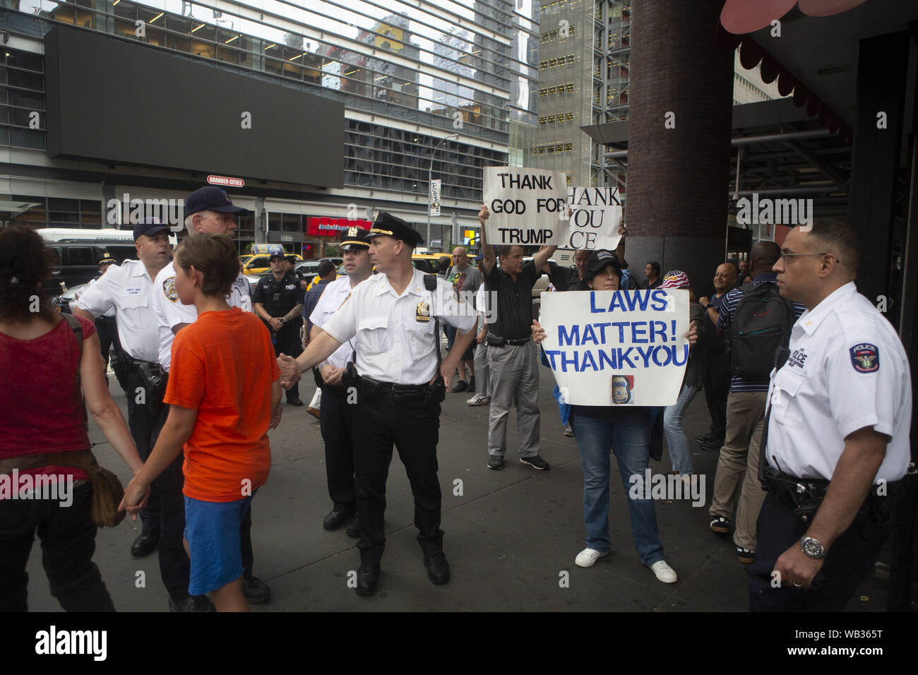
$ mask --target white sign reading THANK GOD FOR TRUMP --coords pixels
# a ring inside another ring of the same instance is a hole
[[[567,179],[560,171],[485,167],[487,243],[543,246],[561,243],[567,227]]]

